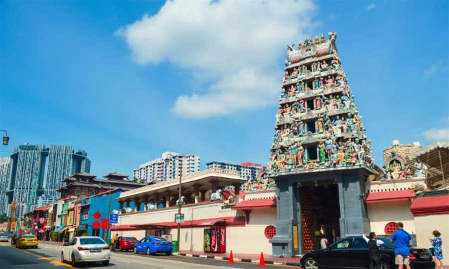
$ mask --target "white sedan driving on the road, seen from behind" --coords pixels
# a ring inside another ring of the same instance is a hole
[[[111,251],[109,246],[98,236],[77,236],[68,243],[64,243],[61,252],[61,262],[71,262],[76,266],[80,262],[102,262],[109,264]]]

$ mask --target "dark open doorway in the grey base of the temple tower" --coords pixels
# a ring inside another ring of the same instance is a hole
[[[331,244],[340,239],[338,185],[301,187],[302,244],[304,253],[320,249],[326,237]]]

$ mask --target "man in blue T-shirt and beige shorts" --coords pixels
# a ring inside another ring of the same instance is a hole
[[[397,225],[399,229],[393,233],[390,239],[390,241],[395,242],[396,245],[395,263],[398,265],[398,269],[402,269],[403,265],[405,265],[407,269],[410,269],[410,234],[404,231],[404,224],[402,224],[402,222],[398,222]]]

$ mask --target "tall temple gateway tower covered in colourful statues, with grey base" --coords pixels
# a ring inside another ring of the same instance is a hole
[[[271,146],[277,185],[274,256],[295,256],[370,231],[365,182],[371,141],[347,84],[337,34],[306,39],[287,60]]]

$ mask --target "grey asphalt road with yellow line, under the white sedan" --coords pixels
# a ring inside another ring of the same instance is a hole
[[[0,269],[52,269],[72,267],[61,262],[62,246],[39,243],[38,249],[16,249],[10,243],[0,243]],[[79,265],[78,268],[101,268],[101,263]],[[230,268],[259,268],[256,264],[239,263],[228,264],[224,260],[192,258],[185,256],[166,256],[133,254],[132,252],[112,253],[109,267],[132,269],[230,269]],[[288,266],[269,265],[265,268],[280,269]],[[298,267],[290,267],[298,268]]]

